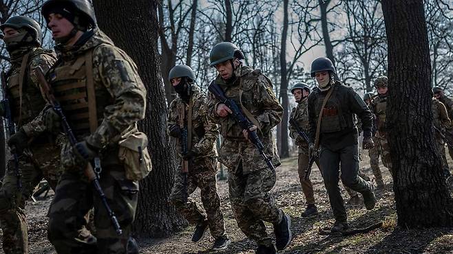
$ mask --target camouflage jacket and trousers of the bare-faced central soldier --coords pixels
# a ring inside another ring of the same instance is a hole
[[[268,157],[280,164],[272,128],[282,119],[283,108],[272,90],[272,83],[260,70],[243,66],[235,69],[235,80],[225,82],[220,76],[215,83],[225,95],[246,108],[256,119],[257,133]],[[241,96],[242,95],[242,96]],[[244,234],[262,246],[271,246],[263,221],[278,224],[283,211],[268,192],[275,185],[275,172],[268,168],[253,143],[244,139],[242,128],[232,117],[220,117],[216,110],[220,102],[210,93],[209,116],[220,124],[224,138],[220,161],[229,170],[229,195],[238,226]]]

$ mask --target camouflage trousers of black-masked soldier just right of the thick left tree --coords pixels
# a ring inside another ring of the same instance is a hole
[[[191,163],[186,187],[181,167],[178,168],[169,196],[169,201],[176,206],[178,212],[182,213],[190,224],[198,224],[207,220],[211,235],[215,239],[225,234],[224,218],[222,209],[220,209],[220,197],[215,179],[216,174],[217,159],[199,158],[196,163]],[[201,202],[206,211],[189,197],[197,187],[200,188]],[[187,202],[185,202],[185,197],[187,197]]]

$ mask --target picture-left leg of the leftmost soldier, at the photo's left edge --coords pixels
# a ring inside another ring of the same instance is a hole
[[[28,229],[25,203],[32,196],[42,174],[32,164],[28,155],[19,157],[22,192],[17,189],[14,161],[8,161],[8,170],[0,189],[0,224],[3,230],[5,253],[28,253]]]

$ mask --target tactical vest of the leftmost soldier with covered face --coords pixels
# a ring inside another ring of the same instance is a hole
[[[14,69],[8,77],[8,95],[10,97],[13,121],[21,126],[39,115],[45,106],[45,100],[39,88],[30,79],[30,63],[42,54],[55,58],[48,49],[35,49],[23,57],[20,69]]]

